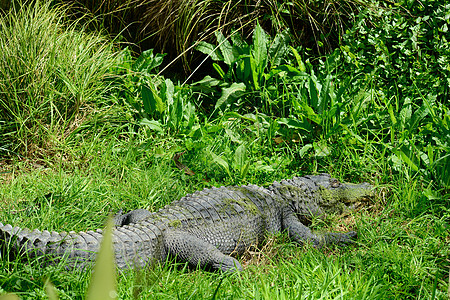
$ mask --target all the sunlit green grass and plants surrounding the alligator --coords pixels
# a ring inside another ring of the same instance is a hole
[[[317,11],[314,1],[294,2]],[[56,1],[4,12],[1,222],[94,229],[119,209],[155,210],[206,187],[328,172],[377,187],[370,205],[312,220],[316,230],[357,230],[357,245],[317,250],[281,234],[240,258],[240,274],[177,264],[119,273],[119,298],[447,299],[450,5],[342,2],[358,10],[339,15],[346,27],[329,13],[330,26],[345,30],[324,55],[288,23],[267,26],[289,20],[283,3],[248,19],[220,4],[242,19],[184,40],[207,56],[183,80],[161,72],[171,63],[164,54],[135,53],[97,31],[107,18],[128,22],[116,14],[123,6],[87,23]],[[244,19],[251,27],[233,30]],[[0,265],[0,291],[23,299],[45,299],[49,281],[60,299],[83,298],[91,277],[8,257]]]

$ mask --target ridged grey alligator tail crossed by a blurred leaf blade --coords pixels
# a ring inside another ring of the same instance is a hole
[[[63,262],[66,269],[84,268],[95,260],[102,234],[100,229],[58,233],[0,223],[0,253],[10,260],[38,259],[44,265]],[[115,228],[113,244],[119,269],[142,267],[165,257],[161,230],[150,223]]]

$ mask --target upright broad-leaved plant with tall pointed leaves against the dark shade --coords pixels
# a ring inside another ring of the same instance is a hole
[[[215,109],[232,104],[244,92],[261,92],[266,81],[280,72],[276,67],[281,64],[288,50],[288,31],[277,34],[271,41],[258,23],[253,32],[252,45],[248,45],[237,33],[231,35],[232,44],[220,31],[215,34],[217,46],[200,42],[196,49],[214,61],[224,62],[228,69],[225,72],[219,64],[213,63],[220,79],[205,77],[194,84],[203,91],[209,91],[214,87],[221,88],[222,95],[217,100]]]

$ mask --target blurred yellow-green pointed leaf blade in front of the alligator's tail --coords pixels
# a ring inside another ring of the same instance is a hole
[[[110,217],[103,232],[100,250],[94,266],[94,273],[92,274],[87,291],[87,300],[117,299],[116,264],[114,262],[112,243],[113,228],[113,218]]]

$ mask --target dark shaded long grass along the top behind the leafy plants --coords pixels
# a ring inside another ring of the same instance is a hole
[[[270,33],[291,29],[291,38],[324,53],[336,47],[340,37],[369,3],[345,1],[178,1],[178,0],[71,0],[71,12],[95,18],[97,26],[121,33],[141,47],[182,58],[186,71],[193,69],[200,41],[210,41],[217,31],[249,35],[256,20]],[[81,13],[80,13],[81,12]]]

